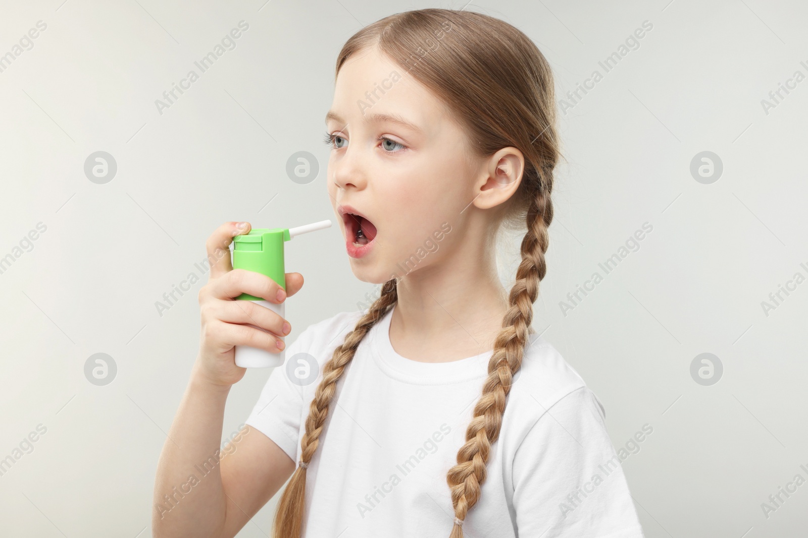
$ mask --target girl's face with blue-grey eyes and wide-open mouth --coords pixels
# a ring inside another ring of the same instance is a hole
[[[356,277],[403,277],[459,244],[476,161],[461,127],[406,69],[376,48],[351,56],[326,131],[328,194]]]

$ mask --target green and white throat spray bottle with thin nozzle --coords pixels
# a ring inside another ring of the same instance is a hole
[[[249,233],[234,236],[233,269],[246,269],[265,274],[286,290],[284,242],[309,231],[322,230],[330,226],[330,220],[322,220],[295,228],[254,228]],[[241,294],[236,300],[255,302],[255,304],[269,308],[281,318],[286,317],[286,301],[276,304],[250,294]],[[261,327],[256,327],[251,323],[247,324],[266,332]],[[281,336],[280,340],[284,340],[284,338]],[[274,368],[284,364],[285,352],[285,347],[279,349],[277,353],[271,353],[266,349],[237,345],[236,365],[242,368]]]

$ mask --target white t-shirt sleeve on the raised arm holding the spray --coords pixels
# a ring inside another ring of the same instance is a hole
[[[275,441],[288,457],[297,458],[298,432],[303,414],[303,387],[287,374],[288,361],[309,346],[311,327],[301,332],[286,348],[286,361],[273,368],[245,423]]]

